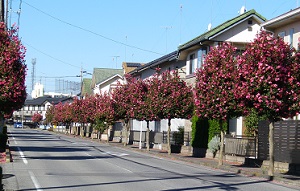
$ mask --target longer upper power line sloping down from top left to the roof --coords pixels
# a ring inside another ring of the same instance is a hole
[[[85,29],[85,28],[83,28],[83,27],[74,25],[74,24],[69,23],[69,22],[67,22],[67,21],[64,21],[64,20],[62,20],[62,19],[60,19],[60,18],[57,18],[57,17],[55,17],[55,16],[53,16],[53,15],[50,15],[49,13],[46,13],[45,11],[42,11],[42,10],[40,10],[40,9],[38,9],[38,8],[36,8],[36,7],[32,6],[32,5],[30,5],[30,4],[28,4],[26,1],[23,1],[23,3],[26,4],[26,5],[28,5],[28,6],[31,7],[31,8],[35,9],[36,11],[38,11],[38,12],[40,12],[40,13],[43,13],[44,15],[47,15],[48,17],[51,17],[51,18],[54,19],[54,20],[57,20],[57,21],[59,21],[59,22],[61,22],[61,23],[64,23],[64,24],[66,24],[66,25],[69,25],[69,26],[71,26],[71,27],[80,29],[80,30],[82,30],[82,31],[91,33],[91,34],[93,34],[93,35],[95,35],[95,36],[104,38],[104,39],[106,39],[106,40],[109,40],[109,41],[112,41],[112,42],[114,42],[114,43],[117,43],[117,44],[121,44],[121,45],[130,47],[130,48],[138,49],[138,50],[141,50],[141,51],[144,51],[144,52],[150,52],[150,53],[153,53],[153,54],[163,55],[163,54],[161,54],[161,53],[158,53],[158,52],[155,52],[155,51],[152,51],[152,50],[143,49],[143,48],[140,48],[140,47],[137,47],[137,46],[129,45],[129,44],[126,44],[126,43],[117,41],[117,40],[115,40],[115,39],[106,37],[106,36],[104,36],[104,35],[101,35],[101,34],[99,34],[99,33],[96,33],[96,32],[94,32],[94,31],[91,31],[91,30],[89,30],[89,29]]]

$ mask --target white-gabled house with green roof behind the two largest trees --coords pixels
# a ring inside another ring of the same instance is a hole
[[[203,65],[205,55],[211,47],[218,46],[221,42],[230,42],[238,48],[238,51],[243,51],[246,44],[259,33],[260,25],[265,20],[263,16],[252,9],[179,46],[178,60],[185,61],[186,82],[191,85],[195,84],[195,71]],[[191,129],[185,130],[191,131]],[[229,133],[242,135],[243,131],[242,117],[229,121]]]

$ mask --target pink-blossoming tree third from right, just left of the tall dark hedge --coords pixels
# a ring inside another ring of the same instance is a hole
[[[194,98],[192,88],[180,79],[177,71],[157,73],[149,79],[148,83],[147,100],[153,118],[168,120],[168,154],[171,154],[171,120],[174,118],[189,119],[193,115]]]

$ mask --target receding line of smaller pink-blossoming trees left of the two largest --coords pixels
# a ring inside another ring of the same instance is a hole
[[[193,114],[192,88],[180,79],[177,72],[157,72],[148,80],[137,80],[126,76],[126,84],[119,83],[108,95],[74,98],[71,104],[52,106],[46,113],[47,122],[90,124],[97,130],[104,130],[115,121],[125,122],[125,141],[127,144],[129,119],[147,122],[147,149],[149,150],[149,122],[168,120],[168,152],[171,153],[171,119],[191,118]],[[70,128],[71,129],[71,128]]]

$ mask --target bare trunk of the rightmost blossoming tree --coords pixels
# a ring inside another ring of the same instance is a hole
[[[274,177],[274,121],[271,120],[269,124],[269,180]]]

